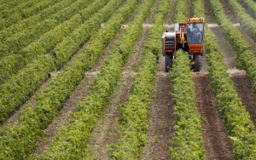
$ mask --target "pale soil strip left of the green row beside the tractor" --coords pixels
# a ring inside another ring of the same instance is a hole
[[[108,157],[108,145],[115,143],[119,139],[119,105],[128,99],[132,91],[133,78],[136,76],[137,69],[141,64],[143,47],[148,39],[149,28],[143,28],[141,36],[137,43],[119,80],[119,86],[115,89],[113,97],[109,101],[109,106],[102,113],[103,117],[98,123],[89,145],[92,146],[95,153],[92,159],[111,159]]]

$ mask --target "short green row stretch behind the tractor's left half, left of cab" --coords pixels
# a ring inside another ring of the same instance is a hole
[[[175,23],[184,23],[186,21],[187,14],[187,1],[179,0],[176,2],[175,6]]]

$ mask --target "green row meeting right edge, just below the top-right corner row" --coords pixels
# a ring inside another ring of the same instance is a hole
[[[237,3],[236,0],[226,0],[226,2],[236,15],[236,19],[239,21],[242,29],[247,32],[249,37],[252,37],[256,41],[256,20],[250,14],[247,14],[247,10],[240,3]],[[254,4],[256,6],[256,3]]]

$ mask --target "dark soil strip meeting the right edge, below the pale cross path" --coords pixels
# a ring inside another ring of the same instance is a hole
[[[256,127],[256,94],[253,93],[250,80],[245,72],[230,74],[230,79],[236,86],[236,92],[241,98],[242,105],[249,112],[251,120]]]

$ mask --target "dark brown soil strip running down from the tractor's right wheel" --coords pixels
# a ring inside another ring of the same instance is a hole
[[[234,159],[232,142],[226,134],[224,120],[219,118],[218,103],[214,100],[209,75],[194,73],[193,81],[196,106],[202,116],[202,137],[207,159]]]

